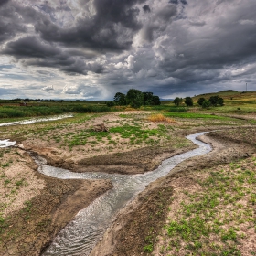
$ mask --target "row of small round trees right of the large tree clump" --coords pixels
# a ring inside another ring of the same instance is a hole
[[[185,99],[176,97],[174,100],[174,103],[176,106],[179,106],[183,101],[187,105],[187,107],[192,107],[194,105],[193,99],[191,97],[186,97]],[[211,106],[217,107],[218,105],[223,106],[224,100],[223,98],[216,95],[216,96],[211,96],[208,100],[205,98],[199,98],[197,101],[197,104],[202,106],[202,108],[208,108]]]

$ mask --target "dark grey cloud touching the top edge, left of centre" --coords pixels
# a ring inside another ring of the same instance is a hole
[[[139,8],[135,4],[145,0],[94,0],[95,15],[81,16],[73,27],[63,28],[49,19],[39,20],[36,31],[47,41],[98,50],[128,49],[133,43],[133,33],[142,24],[137,20]]]

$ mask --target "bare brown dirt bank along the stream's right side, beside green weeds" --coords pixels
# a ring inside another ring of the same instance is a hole
[[[230,163],[255,153],[256,144],[251,140],[251,134],[252,137],[255,135],[255,128],[234,128],[229,133],[220,131],[202,136],[201,139],[212,144],[214,150],[208,155],[188,159],[168,176],[148,186],[133,203],[123,208],[90,255],[148,255],[144,246],[155,243],[166,223],[176,180],[189,176],[186,183],[179,184],[186,188],[193,183],[195,170]]]

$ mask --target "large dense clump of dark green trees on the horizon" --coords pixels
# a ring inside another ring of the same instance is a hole
[[[109,107],[130,105],[132,108],[139,108],[142,105],[160,105],[160,98],[153,92],[142,92],[136,89],[130,89],[126,94],[116,92],[113,101],[107,102]]]

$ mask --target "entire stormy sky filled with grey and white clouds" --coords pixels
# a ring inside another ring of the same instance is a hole
[[[256,90],[255,0],[1,0],[0,99]]]

